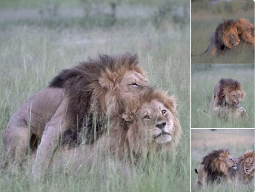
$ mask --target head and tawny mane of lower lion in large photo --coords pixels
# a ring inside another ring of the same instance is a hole
[[[115,148],[124,149],[128,154],[132,152],[138,158],[156,151],[170,151],[178,145],[181,127],[176,117],[176,101],[173,97],[150,90],[143,95],[142,101],[127,105],[121,120],[117,118],[111,124],[110,132]]]

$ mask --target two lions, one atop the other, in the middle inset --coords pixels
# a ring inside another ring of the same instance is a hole
[[[231,78],[221,79],[215,85],[211,96],[208,115],[213,118],[228,120],[248,119],[248,114],[240,102],[245,98],[243,86],[240,82]],[[198,113],[204,113],[197,110]]]

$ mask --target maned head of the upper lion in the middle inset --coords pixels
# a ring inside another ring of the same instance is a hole
[[[218,106],[226,106],[227,104],[238,108],[240,102],[245,98],[242,85],[231,78],[222,78],[219,81]]]

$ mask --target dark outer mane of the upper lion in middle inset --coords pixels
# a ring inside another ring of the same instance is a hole
[[[231,79],[231,78],[222,78],[220,81],[220,91],[218,93],[218,105],[219,106],[227,106],[227,101],[225,99],[225,95],[226,93],[224,92],[224,89],[230,89],[230,90],[237,90],[237,89],[241,89],[241,84],[240,82]]]

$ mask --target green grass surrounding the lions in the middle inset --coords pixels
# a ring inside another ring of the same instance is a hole
[[[208,118],[197,110],[209,110],[213,88],[221,78],[232,78],[243,85],[245,99],[240,103],[248,113],[248,121]],[[254,65],[191,65],[191,128],[254,128]]]

